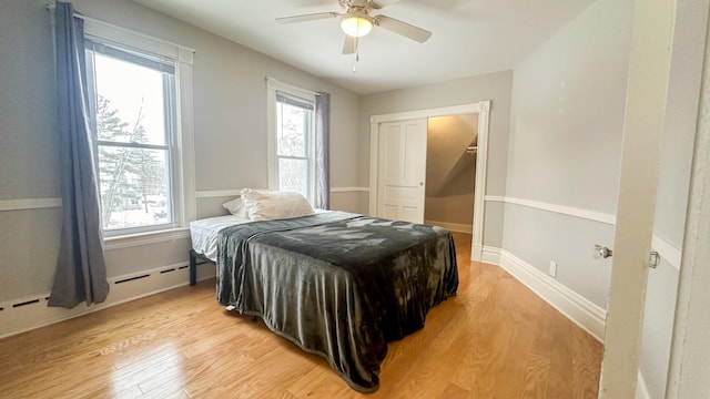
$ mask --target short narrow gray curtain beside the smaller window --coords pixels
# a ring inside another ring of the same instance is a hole
[[[331,93],[315,98],[315,207],[331,206]]]

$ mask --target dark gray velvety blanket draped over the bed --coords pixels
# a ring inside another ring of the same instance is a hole
[[[452,234],[344,212],[222,229],[217,300],[257,315],[347,383],[373,392],[387,341],[456,294]]]

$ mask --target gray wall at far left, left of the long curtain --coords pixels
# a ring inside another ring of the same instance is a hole
[[[52,32],[43,1],[0,2],[0,200],[58,197]],[[0,212],[0,300],[48,290],[59,208]]]

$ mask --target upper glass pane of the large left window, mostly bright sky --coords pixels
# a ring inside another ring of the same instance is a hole
[[[95,54],[99,140],[164,145],[164,76],[156,70]]]

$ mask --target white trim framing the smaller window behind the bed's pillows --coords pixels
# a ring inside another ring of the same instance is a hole
[[[276,157],[276,92],[282,92],[291,95],[295,95],[297,98],[308,100],[313,102],[315,108],[315,98],[317,93],[296,88],[294,85],[280,82],[274,78],[266,76],[266,170],[268,172],[268,188],[276,190],[278,187],[278,182],[276,182],[276,171],[278,170],[277,157]],[[313,126],[315,126],[315,111],[313,112],[314,121]],[[310,180],[311,184],[308,186],[310,198],[315,198],[315,132],[311,137],[311,157],[310,157]]]

